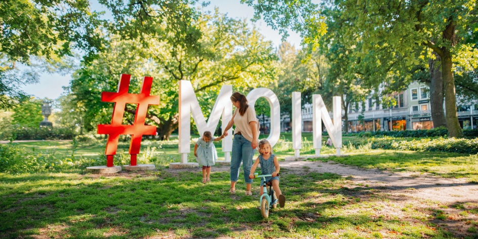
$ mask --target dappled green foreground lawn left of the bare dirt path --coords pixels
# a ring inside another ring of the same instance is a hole
[[[288,198],[286,208],[272,209],[269,219],[260,214],[257,192],[252,197],[244,196],[241,190],[236,195],[229,194],[228,172],[213,173],[208,184],[201,183],[200,172],[171,174],[164,169],[150,175],[129,173],[128,177],[85,176],[74,183],[69,180],[81,175],[60,176],[55,183],[47,182],[51,176],[41,174],[15,176],[8,181],[2,178],[8,185],[0,202],[0,237],[42,234],[129,238],[163,233],[180,237],[300,237],[331,233],[360,237],[371,231],[385,235],[397,232],[406,237],[421,237],[422,233],[447,235],[425,224],[417,226],[371,214],[370,205],[395,199],[371,188],[344,187],[348,181],[340,175],[284,172],[281,188]],[[30,192],[42,181],[42,193]],[[15,188],[18,182],[23,183]],[[241,184],[244,185],[240,182],[238,187]],[[253,187],[258,186],[255,181]],[[11,188],[17,193],[11,193]],[[353,207],[359,209],[347,211]]]

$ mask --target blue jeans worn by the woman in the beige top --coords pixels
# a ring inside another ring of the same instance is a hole
[[[246,183],[252,183],[249,174],[251,174],[252,157],[256,150],[252,149],[251,143],[242,135],[234,135],[231,153],[231,182],[237,182],[239,179],[239,167],[243,162],[244,180]]]

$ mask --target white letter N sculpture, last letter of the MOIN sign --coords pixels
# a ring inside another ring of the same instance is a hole
[[[313,146],[315,148],[315,156],[321,154],[322,121],[324,121],[329,137],[336,148],[337,155],[340,155],[340,148],[342,148],[342,106],[339,96],[333,97],[333,109],[334,122],[332,123],[322,96],[312,95]]]

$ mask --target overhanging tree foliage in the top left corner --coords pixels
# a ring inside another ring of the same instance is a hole
[[[88,0],[0,1],[0,108],[25,99],[19,86],[37,82],[37,75],[25,79],[17,62],[30,65],[32,56],[58,62],[73,49],[93,59],[105,44],[98,17]]]

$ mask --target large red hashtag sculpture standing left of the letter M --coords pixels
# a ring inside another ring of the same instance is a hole
[[[129,153],[131,154],[131,166],[136,166],[136,156],[141,147],[143,135],[155,135],[156,127],[144,125],[148,105],[160,104],[159,96],[151,96],[151,85],[153,78],[146,76],[143,79],[140,94],[128,93],[130,86],[129,74],[122,74],[119,81],[118,92],[102,92],[101,101],[114,102],[111,125],[98,125],[98,134],[107,134],[106,143],[106,166],[113,167],[113,156],[118,147],[119,135],[131,135]],[[123,115],[127,103],[138,104],[133,125],[123,125]]]

